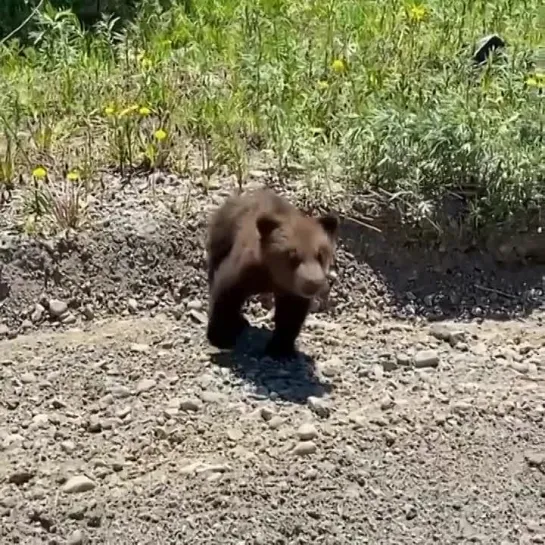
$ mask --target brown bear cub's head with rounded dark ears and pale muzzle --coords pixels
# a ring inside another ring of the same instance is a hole
[[[336,216],[265,213],[257,229],[262,263],[278,288],[307,299],[327,289],[339,229]]]

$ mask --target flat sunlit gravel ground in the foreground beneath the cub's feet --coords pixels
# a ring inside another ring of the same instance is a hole
[[[545,542],[545,327],[312,317],[284,366],[252,336],[3,341],[2,542]]]

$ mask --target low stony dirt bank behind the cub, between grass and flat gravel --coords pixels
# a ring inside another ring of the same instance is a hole
[[[295,186],[273,185],[306,204]],[[155,177],[153,185],[149,178],[130,185],[112,178],[107,187],[91,207],[88,228],[73,236],[37,241],[6,230],[2,335],[135,312],[179,315],[188,304],[205,309],[206,222],[233,188],[204,194],[174,176]],[[440,251],[402,235],[344,217],[338,278],[318,310],[359,312],[373,323],[382,316],[505,319],[543,306],[545,266],[498,267],[476,250]],[[259,312],[259,305],[250,307]]]

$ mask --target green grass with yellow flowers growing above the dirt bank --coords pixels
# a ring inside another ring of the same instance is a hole
[[[204,184],[226,170],[242,185],[264,148],[279,172],[430,219],[463,195],[472,229],[542,207],[540,0],[188,4],[144,2],[123,32],[44,11],[31,46],[1,46],[0,184],[42,166],[77,170],[90,191],[104,167],[185,171],[197,153]],[[508,48],[477,68],[472,45],[490,32]]]

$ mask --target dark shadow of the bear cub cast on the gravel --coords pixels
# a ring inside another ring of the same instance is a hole
[[[297,352],[289,360],[275,360],[264,355],[271,332],[250,326],[240,335],[231,351],[217,352],[211,361],[226,367],[245,382],[256,386],[256,394],[290,403],[305,404],[310,396],[330,393],[332,385],[316,374],[314,358]]]

